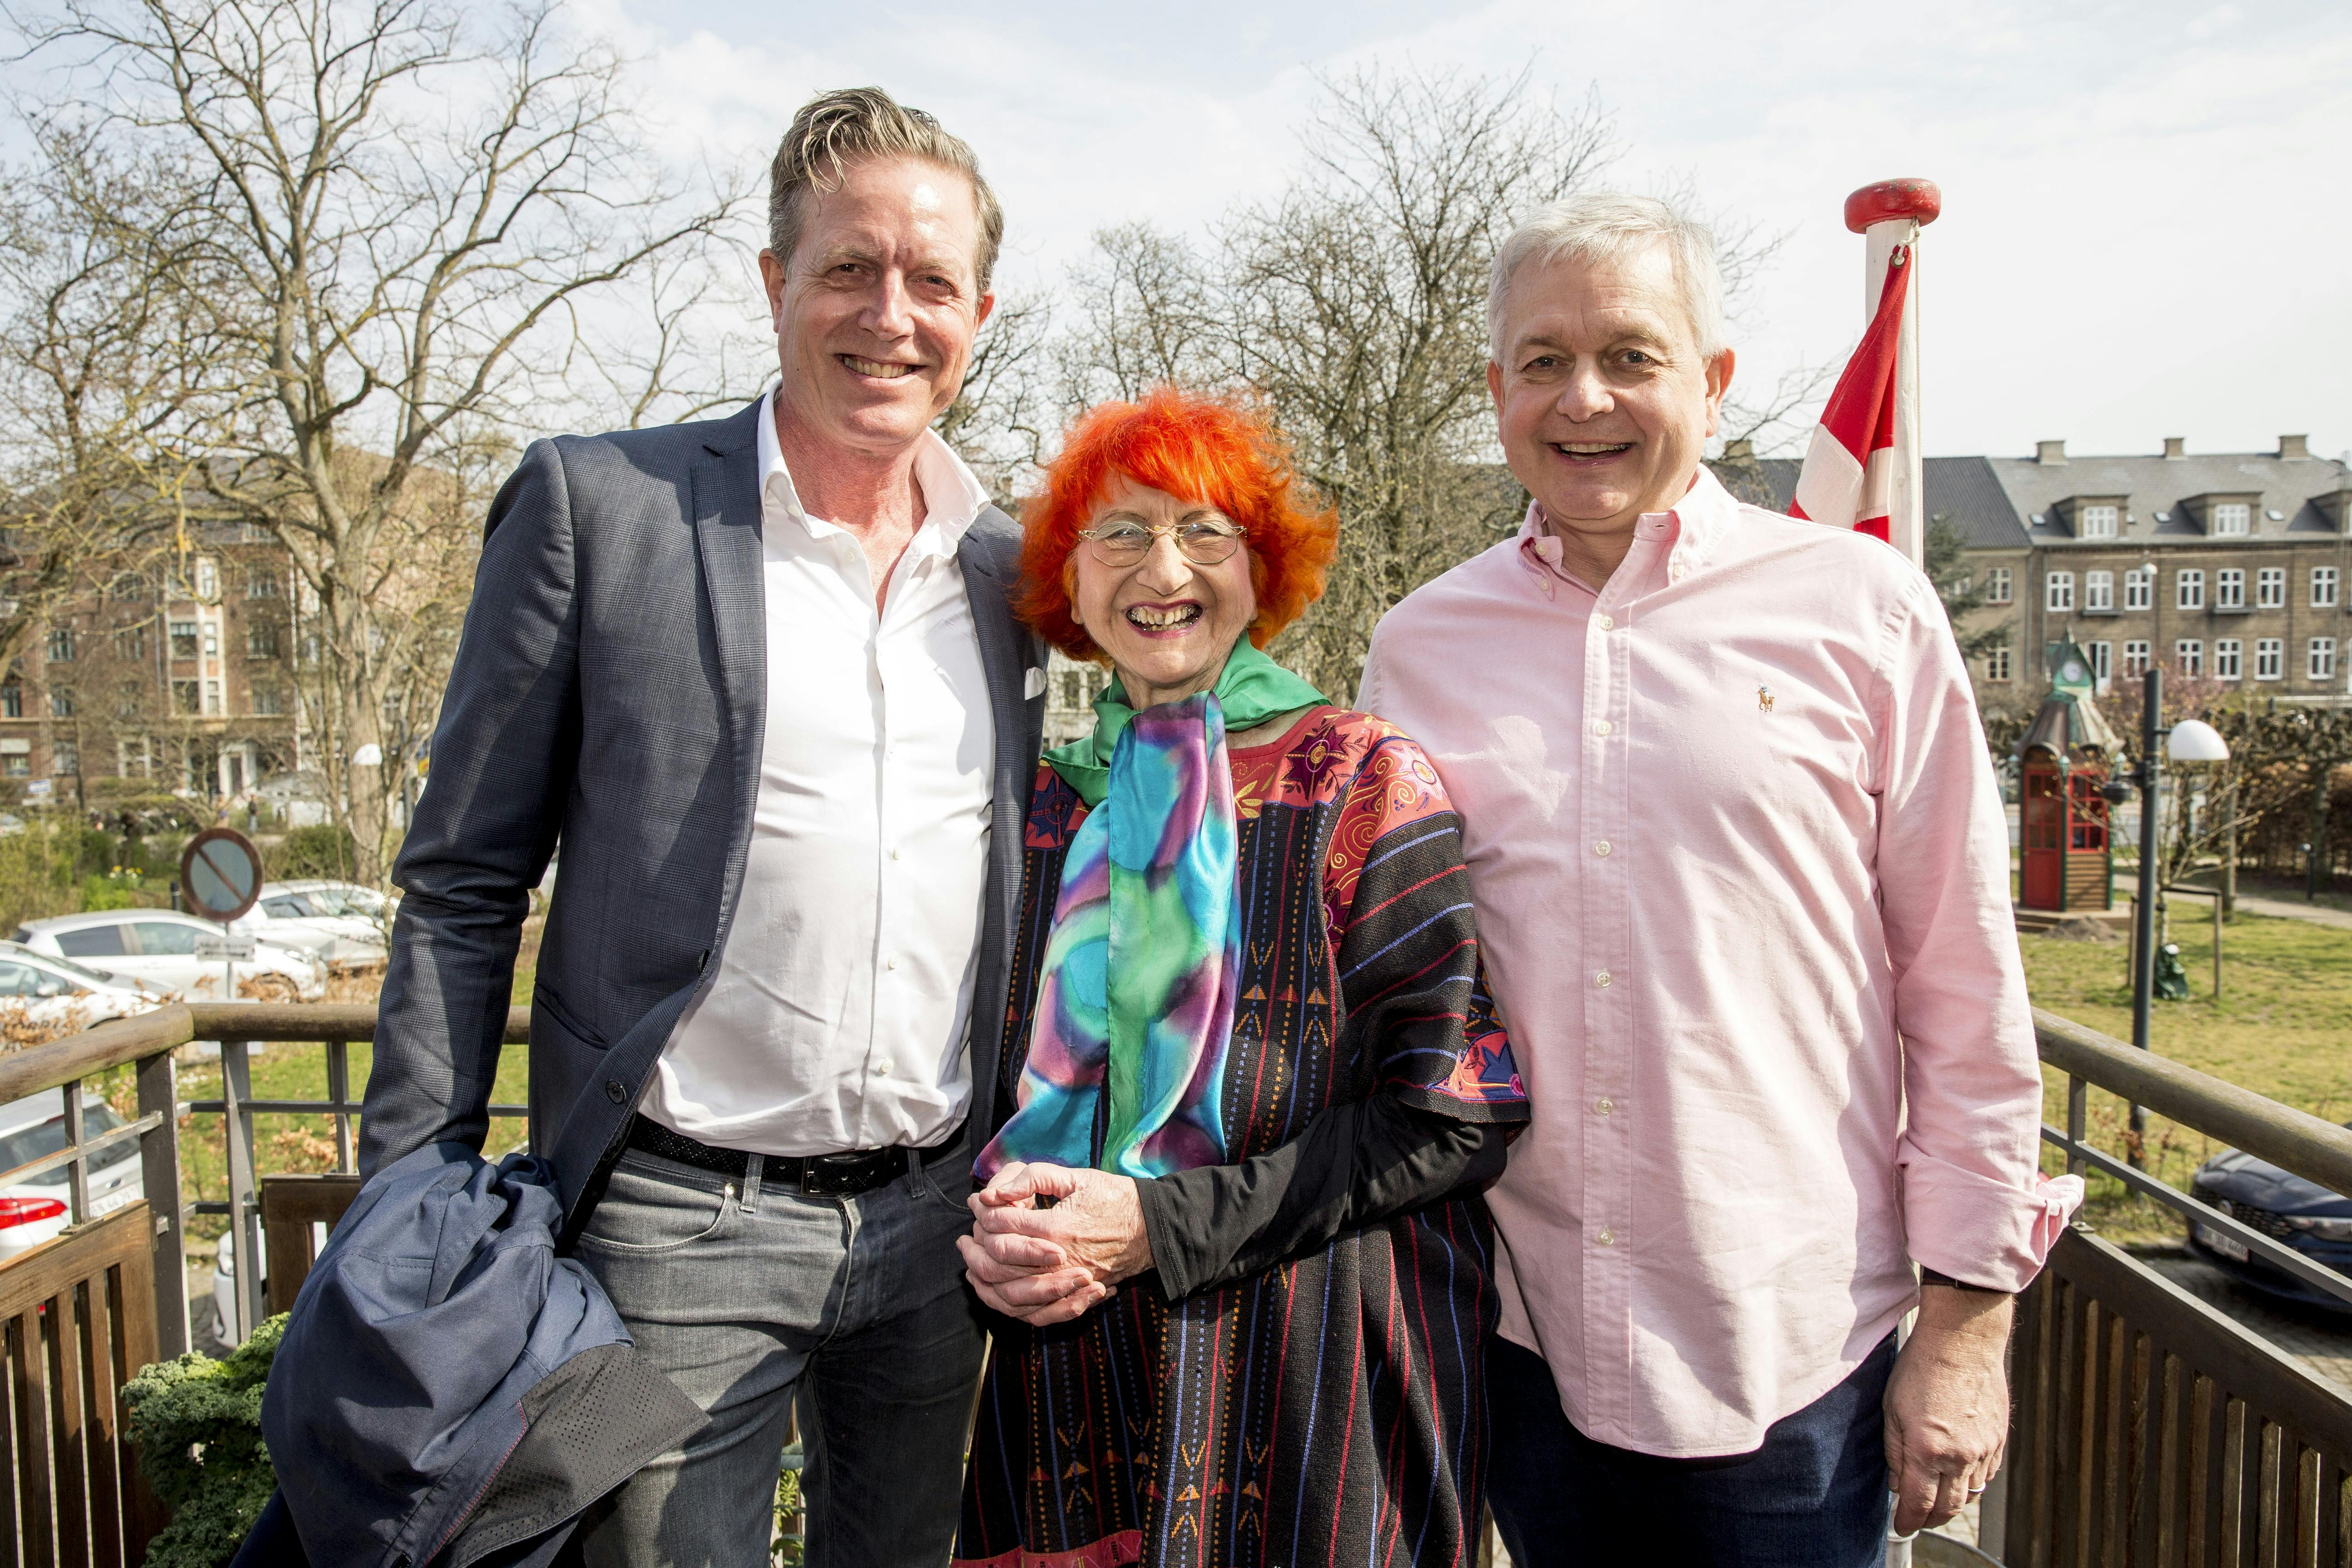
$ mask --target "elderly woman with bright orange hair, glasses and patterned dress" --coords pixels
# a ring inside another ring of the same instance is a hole
[[[1338,524],[1251,411],[1155,390],[1023,534],[1021,614],[1115,679],[1030,797],[957,1561],[1465,1563],[1526,1095],[1437,771],[1261,651]]]

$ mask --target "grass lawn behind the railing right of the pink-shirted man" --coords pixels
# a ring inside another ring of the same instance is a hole
[[[2131,1039],[2129,943],[2018,938],[2034,1006]],[[2223,929],[2223,997],[2213,999],[2213,926],[2201,900],[2173,905],[2173,940],[2190,973],[2187,1001],[2157,1001],[2150,1048],[2328,1121],[2352,1119],[2352,931],[2298,919],[2239,914]],[[2065,1077],[2044,1070],[2044,1119],[2065,1126]],[[2091,1140],[2124,1152],[2124,1103],[2093,1088]],[[2154,1175],[2187,1185],[2216,1145],[2164,1117],[2147,1119]],[[2044,1168],[2065,1168],[2044,1147]],[[2129,1197],[2122,1182],[2091,1178],[2086,1218],[2112,1241],[2176,1241],[2180,1220]]]

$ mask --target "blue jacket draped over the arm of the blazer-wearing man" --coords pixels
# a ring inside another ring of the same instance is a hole
[[[546,1159],[376,1171],[303,1281],[261,1403],[278,1495],[233,1568],[543,1568],[703,1413],[557,1255]]]

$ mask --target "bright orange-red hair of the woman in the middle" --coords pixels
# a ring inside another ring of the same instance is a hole
[[[1298,484],[1282,437],[1240,402],[1157,386],[1143,402],[1087,409],[1047,465],[1044,489],[1021,512],[1014,614],[1070,658],[1103,656],[1077,623],[1070,590],[1077,534],[1110,494],[1112,475],[1214,505],[1247,529],[1256,646],[1322,597],[1324,571],[1338,555],[1338,515]]]

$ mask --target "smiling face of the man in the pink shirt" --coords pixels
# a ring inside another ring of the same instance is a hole
[[[1486,367],[1503,458],[1543,503],[1569,564],[1606,576],[1644,512],[1698,477],[1731,386],[1700,360],[1663,244],[1623,263],[1529,263],[1510,280],[1503,360]]]

